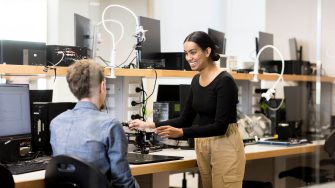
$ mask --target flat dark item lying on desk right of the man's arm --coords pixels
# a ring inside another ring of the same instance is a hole
[[[127,159],[129,164],[148,164],[164,161],[179,160],[184,157],[181,156],[167,156],[167,155],[152,155],[140,153],[128,153]]]

